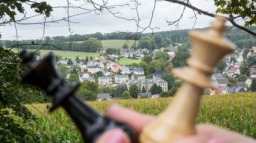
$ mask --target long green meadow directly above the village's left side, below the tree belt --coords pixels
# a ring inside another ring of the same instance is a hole
[[[12,49],[13,52],[18,53],[18,49],[17,48],[13,48]],[[22,51],[19,49],[19,52]],[[35,51],[35,49],[27,49],[27,51],[33,52]],[[45,50],[45,49],[40,49],[41,52],[41,56],[46,56],[47,54],[49,54],[50,51],[53,51],[54,55],[59,55],[62,56],[62,58],[64,59],[65,57],[67,58],[71,58],[71,60],[75,60],[75,58],[78,56],[79,59],[85,59],[86,56],[88,56],[90,58],[90,56],[92,57],[96,57],[99,56],[100,53],[90,53],[90,52],[74,52],[74,51],[61,51],[61,50]]]

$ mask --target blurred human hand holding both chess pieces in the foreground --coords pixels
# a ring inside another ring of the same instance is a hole
[[[139,142],[138,137],[142,129],[150,124],[155,117],[141,115],[135,111],[112,105],[108,108],[106,116],[116,121],[129,124],[136,132],[133,142]],[[256,143],[256,140],[241,134],[228,131],[213,125],[196,125],[196,135],[188,136],[175,143]],[[121,129],[112,129],[101,135],[96,143],[130,143],[128,135]]]

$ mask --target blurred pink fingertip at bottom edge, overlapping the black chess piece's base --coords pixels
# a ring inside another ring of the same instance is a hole
[[[130,143],[130,139],[123,130],[116,128],[106,131],[96,143]]]

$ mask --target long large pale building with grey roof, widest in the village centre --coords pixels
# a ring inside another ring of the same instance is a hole
[[[158,78],[158,79],[146,78],[146,79],[141,79],[140,81],[142,83],[141,84],[141,88],[143,87],[143,85],[144,85],[144,87],[146,87],[146,81],[147,81],[148,82],[148,90],[150,89],[150,87],[154,83],[156,83],[157,85],[160,85],[162,87],[163,91],[167,91],[168,90],[168,88],[167,88],[168,83],[165,80],[163,80],[162,78]],[[130,80],[130,81],[128,81],[125,84],[126,84],[128,89],[129,89],[130,84],[136,84],[138,86],[139,79]]]

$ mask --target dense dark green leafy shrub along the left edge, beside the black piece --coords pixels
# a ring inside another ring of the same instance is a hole
[[[5,53],[6,52],[6,53]],[[5,54],[4,54],[5,53]],[[0,48],[1,62],[19,64],[20,60],[11,51]],[[18,71],[17,71],[18,70]],[[38,122],[36,116],[24,104],[48,102],[49,98],[35,87],[21,84],[20,74],[25,74],[23,65],[2,64],[0,66],[0,141],[45,142],[44,132],[30,129]],[[22,124],[21,124],[22,123]]]

